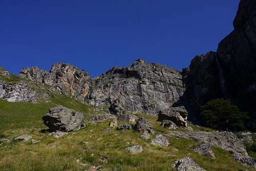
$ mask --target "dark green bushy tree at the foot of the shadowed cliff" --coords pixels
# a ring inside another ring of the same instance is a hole
[[[201,107],[201,115],[206,126],[221,131],[243,131],[249,119],[248,113],[224,99],[207,102]]]

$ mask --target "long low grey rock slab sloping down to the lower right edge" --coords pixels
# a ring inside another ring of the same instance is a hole
[[[169,135],[177,138],[194,140],[203,144],[210,144],[212,147],[222,148],[233,154],[234,159],[240,159],[238,161],[243,164],[249,166],[253,166],[253,164],[255,164],[255,159],[248,156],[243,142],[241,142],[241,140],[231,132],[171,131]],[[199,148],[201,148],[200,151],[205,151],[205,149],[207,149],[206,145],[201,145]],[[211,153],[208,149],[206,151]],[[236,156],[239,156],[239,158]],[[246,161],[248,161],[248,163],[245,163]]]

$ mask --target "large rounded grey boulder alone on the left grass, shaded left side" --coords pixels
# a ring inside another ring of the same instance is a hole
[[[49,113],[42,117],[50,131],[72,132],[85,126],[83,114],[64,106],[51,108]]]

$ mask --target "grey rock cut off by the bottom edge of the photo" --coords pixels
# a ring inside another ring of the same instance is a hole
[[[175,167],[178,171],[206,171],[189,157],[176,161],[173,164],[173,167]]]

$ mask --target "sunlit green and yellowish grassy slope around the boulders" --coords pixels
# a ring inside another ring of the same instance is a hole
[[[54,138],[44,132],[47,127],[42,123],[41,117],[49,108],[60,104],[83,112],[86,119],[95,114],[92,110],[94,107],[58,94],[54,94],[50,102],[36,104],[12,103],[0,99],[0,138],[11,140],[0,141],[0,170],[84,170],[98,165],[105,170],[172,170],[174,161],[187,156],[207,170],[250,170],[231,159],[231,155],[221,149],[214,148],[217,155],[215,160],[195,153],[191,147],[198,143],[193,141],[168,137],[171,142],[169,147],[155,147],[150,144],[150,140],[140,139],[140,134],[134,131],[120,132],[111,128],[110,133],[103,133],[104,129],[109,128],[109,121],[87,122],[84,129],[59,139]],[[156,134],[168,133],[169,130],[159,126],[156,118],[144,117],[154,124]],[[13,141],[13,138],[22,134],[32,135],[33,139],[41,142],[32,144],[31,141]],[[137,144],[144,148],[141,154],[130,155],[124,151],[125,147]],[[108,159],[102,161],[101,157]],[[80,163],[87,166],[83,167]]]

